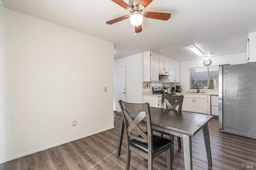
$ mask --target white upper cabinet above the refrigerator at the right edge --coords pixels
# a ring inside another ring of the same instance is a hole
[[[249,53],[249,62],[256,62],[256,32],[249,33],[249,45],[247,53]]]

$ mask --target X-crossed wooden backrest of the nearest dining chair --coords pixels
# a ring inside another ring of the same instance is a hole
[[[152,130],[149,104],[133,104],[123,102],[122,100],[119,100],[118,102],[124,119],[128,145],[130,145],[131,138],[140,142],[148,143],[148,151],[150,152],[150,148],[152,148]],[[132,119],[130,113],[136,113],[138,115],[135,119]],[[145,117],[147,133],[144,133],[144,131],[142,131],[138,126]],[[133,134],[134,130],[136,130],[140,137]]]

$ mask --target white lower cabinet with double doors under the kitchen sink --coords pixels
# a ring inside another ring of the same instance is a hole
[[[210,96],[184,95],[182,110],[210,114]]]

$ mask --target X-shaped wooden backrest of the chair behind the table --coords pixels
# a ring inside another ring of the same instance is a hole
[[[178,111],[181,111],[182,109],[182,103],[183,103],[184,96],[169,96],[169,95],[162,95],[162,108],[164,108],[164,103],[167,105],[169,109],[175,109],[177,106],[179,106]],[[168,100],[177,100],[174,104],[170,104]]]

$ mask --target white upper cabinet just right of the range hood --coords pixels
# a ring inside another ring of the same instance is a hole
[[[180,62],[169,60],[169,74],[170,76],[162,77],[162,82],[180,82]]]

